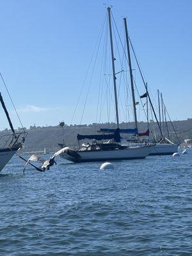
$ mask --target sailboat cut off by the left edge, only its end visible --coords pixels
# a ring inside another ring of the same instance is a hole
[[[1,73],[0,73],[1,76]],[[1,79],[3,80],[3,77],[1,76]],[[4,80],[3,80],[4,83]],[[4,83],[5,85],[5,83]],[[22,147],[22,144],[25,141],[27,132],[23,131],[22,132],[16,132],[15,129],[13,128],[12,121],[10,119],[8,110],[6,109],[6,106],[4,104],[3,97],[0,92],[0,102],[1,106],[4,109],[4,113],[6,115],[6,118],[8,120],[8,123],[10,125],[11,133],[8,134],[3,134],[1,137],[1,144],[2,147],[0,147],[0,172],[3,170],[4,166],[10,161],[10,159],[17,154],[17,150],[19,150]]]

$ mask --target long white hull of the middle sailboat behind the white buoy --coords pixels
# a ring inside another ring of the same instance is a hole
[[[122,150],[84,150],[77,151],[81,159],[76,159],[69,156],[67,153],[62,153],[60,156],[68,161],[75,163],[79,162],[94,162],[94,161],[108,161],[108,160],[123,160],[123,159],[142,159],[150,154],[151,147],[132,147]]]

